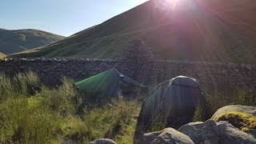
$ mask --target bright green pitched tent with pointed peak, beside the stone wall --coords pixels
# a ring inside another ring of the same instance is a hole
[[[120,92],[140,91],[141,88],[146,87],[114,68],[76,82],[74,86],[82,94],[100,95],[102,97],[114,97]]]

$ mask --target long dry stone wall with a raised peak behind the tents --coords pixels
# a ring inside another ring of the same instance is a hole
[[[0,72],[15,74],[32,70],[42,82],[58,84],[63,76],[82,80],[115,67],[146,85],[163,82],[178,75],[198,78],[206,85],[256,87],[256,65],[162,60],[154,58],[144,42],[134,40],[122,57],[110,59],[12,59],[0,61]]]

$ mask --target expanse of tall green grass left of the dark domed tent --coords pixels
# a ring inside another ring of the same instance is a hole
[[[83,102],[72,80],[62,82],[50,89],[32,72],[14,78],[0,74],[0,143],[88,143],[96,138],[132,143],[138,102],[117,98],[81,110]]]

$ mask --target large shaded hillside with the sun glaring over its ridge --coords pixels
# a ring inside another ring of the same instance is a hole
[[[183,0],[168,10],[158,2],[12,57],[114,58],[142,38],[158,58],[256,63],[256,1]]]

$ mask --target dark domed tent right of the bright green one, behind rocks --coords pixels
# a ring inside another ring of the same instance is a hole
[[[153,121],[162,118],[167,126],[178,128],[192,120],[199,105],[203,109],[206,107],[198,80],[178,76],[162,82],[150,92],[142,105],[138,125],[146,130]]]

